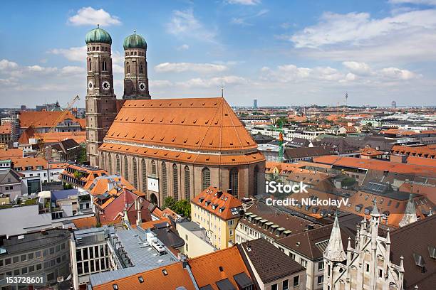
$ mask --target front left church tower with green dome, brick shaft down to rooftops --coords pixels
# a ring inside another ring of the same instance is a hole
[[[113,92],[110,45],[112,38],[100,27],[86,34],[86,152],[91,166],[99,166],[98,146],[117,114]]]

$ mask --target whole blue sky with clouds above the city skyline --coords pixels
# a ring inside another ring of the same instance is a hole
[[[128,4],[126,4],[128,3]],[[1,107],[81,96],[85,33],[145,37],[153,98],[224,95],[232,105],[435,105],[436,0],[3,1]]]

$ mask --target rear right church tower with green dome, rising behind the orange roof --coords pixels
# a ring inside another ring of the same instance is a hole
[[[133,33],[124,43],[124,95],[123,99],[151,99],[147,77],[147,43]]]

